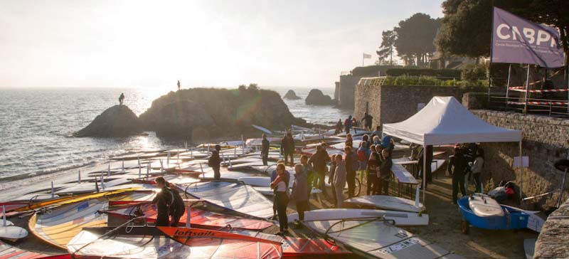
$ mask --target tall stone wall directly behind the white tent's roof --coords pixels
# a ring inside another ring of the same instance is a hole
[[[361,119],[367,108],[373,116],[373,127],[401,122],[414,115],[418,111],[418,105],[426,105],[433,96],[454,96],[457,100],[462,100],[462,91],[459,87],[452,86],[358,84],[353,115]]]

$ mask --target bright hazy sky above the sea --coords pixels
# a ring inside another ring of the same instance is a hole
[[[0,0],[0,88],[329,88],[441,3]]]

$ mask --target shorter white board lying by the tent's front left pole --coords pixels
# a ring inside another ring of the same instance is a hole
[[[344,203],[381,208],[390,211],[420,212],[425,211],[425,206],[419,203],[415,206],[415,201],[400,197],[386,195],[359,196],[344,200]]]

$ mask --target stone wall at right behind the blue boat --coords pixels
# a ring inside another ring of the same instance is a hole
[[[569,120],[491,110],[471,112],[491,125],[521,129],[522,153],[529,157],[529,168],[523,169],[521,176],[523,196],[535,196],[559,188],[563,172],[556,170],[553,163],[568,157]],[[486,156],[482,175],[486,191],[499,181],[513,180],[519,184],[519,170],[511,168],[513,157],[519,156],[518,143],[483,143],[482,148]],[[568,186],[565,187],[565,197],[569,195]],[[528,201],[526,206],[534,205],[535,209],[540,209],[555,206],[557,200],[558,193]]]

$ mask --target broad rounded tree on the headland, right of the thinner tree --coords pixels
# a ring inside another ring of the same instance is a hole
[[[435,52],[433,43],[440,20],[431,18],[428,14],[413,14],[413,16],[400,21],[399,26],[393,28],[397,33],[395,49],[398,56],[406,60],[414,60],[417,65],[425,65],[427,59]]]

